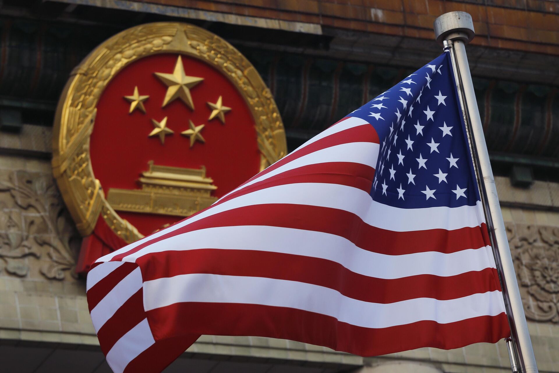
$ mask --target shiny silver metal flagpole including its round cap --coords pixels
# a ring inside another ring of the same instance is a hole
[[[449,12],[438,17],[434,22],[435,37],[451,53],[454,76],[459,93],[459,101],[468,132],[468,141],[476,168],[482,203],[484,204],[487,228],[489,228],[495,262],[501,277],[506,313],[508,315],[511,338],[507,343],[511,358],[511,369],[515,371],[515,357],[522,373],[537,373],[536,358],[530,341],[528,324],[524,315],[517,277],[514,272],[513,258],[510,255],[509,242],[506,237],[503,215],[497,197],[495,180],[489,163],[489,154],[481,125],[473,91],[470,66],[466,58],[465,45],[473,39],[473,22],[466,12]],[[511,351],[514,345],[516,351]]]

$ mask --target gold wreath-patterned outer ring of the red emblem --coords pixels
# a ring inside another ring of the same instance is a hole
[[[89,136],[97,102],[111,79],[126,65],[157,53],[200,59],[234,84],[254,118],[260,170],[287,154],[285,130],[271,92],[253,65],[231,44],[188,23],[146,23],[124,30],[97,46],[74,68],[56,108],[53,173],[82,236],[93,232],[101,214],[112,231],[126,242],[143,237],[108,204],[91,167]]]

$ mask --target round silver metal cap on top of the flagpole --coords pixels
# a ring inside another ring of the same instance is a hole
[[[469,43],[476,35],[473,31],[472,16],[466,12],[448,12],[439,16],[433,22],[435,39],[437,43],[443,44],[444,40],[462,40]]]

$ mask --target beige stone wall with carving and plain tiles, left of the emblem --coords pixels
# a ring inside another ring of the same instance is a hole
[[[94,342],[85,284],[73,272],[80,242],[50,162],[1,155],[0,338],[74,333],[68,341]]]

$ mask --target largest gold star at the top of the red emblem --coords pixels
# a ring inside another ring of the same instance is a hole
[[[190,95],[190,88],[196,86],[204,80],[204,78],[190,77],[184,74],[184,67],[182,65],[181,56],[178,56],[177,63],[172,74],[165,73],[155,73],[155,76],[162,81],[165,86],[167,86],[167,93],[165,93],[165,99],[163,100],[164,107],[169,102],[180,98],[182,102],[186,103],[188,107],[194,110],[194,103],[192,102],[192,96]]]

